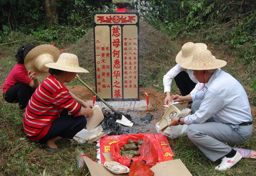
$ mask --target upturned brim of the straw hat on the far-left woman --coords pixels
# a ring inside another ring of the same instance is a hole
[[[35,64],[36,64],[35,59],[41,54],[46,54],[46,53],[51,54],[53,56],[54,62],[58,60],[60,55],[59,49],[52,45],[39,45],[33,48],[25,57],[24,65],[26,69],[28,71],[31,70],[32,72],[35,72],[37,78],[45,78],[49,76],[48,72],[42,72],[35,67]],[[44,70],[47,70],[47,68]]]

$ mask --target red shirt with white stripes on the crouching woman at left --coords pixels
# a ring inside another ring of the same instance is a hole
[[[81,105],[67,87],[50,75],[37,87],[26,107],[23,127],[28,139],[38,141],[45,137],[62,109],[68,109],[74,117],[81,114]]]

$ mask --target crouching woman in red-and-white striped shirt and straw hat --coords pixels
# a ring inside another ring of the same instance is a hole
[[[42,81],[29,100],[23,126],[29,140],[45,144],[47,150],[58,150],[55,142],[72,139],[86,126],[86,118],[93,115],[93,106],[76,97],[63,84],[74,79],[76,73],[88,71],[79,67],[76,55],[69,53],[62,53],[57,62],[47,63],[46,67],[50,68],[51,75]]]

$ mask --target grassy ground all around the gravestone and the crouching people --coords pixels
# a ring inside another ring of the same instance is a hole
[[[46,43],[37,41],[31,36],[20,35],[13,34],[15,40],[20,38],[19,42],[0,46],[1,86],[15,64],[14,54],[19,46]],[[231,73],[241,82],[248,94],[252,109],[255,109],[255,92],[250,88],[255,72],[248,71],[246,65],[237,64],[238,58],[228,55],[226,50],[221,50],[225,46],[214,47],[204,36],[194,36],[194,38],[190,36],[190,38],[173,41],[144,23],[140,25],[140,85],[163,92],[163,75],[175,65],[175,56],[187,41],[205,42],[217,58],[228,61],[228,65],[223,70]],[[82,75],[82,79],[89,85],[94,85],[92,31],[74,45],[66,46],[65,49],[78,55],[81,67],[90,71],[89,74]],[[78,83],[74,81],[72,84]],[[159,86],[155,86],[156,84]],[[172,88],[173,92],[177,92],[175,83]],[[62,146],[63,152],[47,152],[38,143],[32,143],[26,139],[23,133],[23,115],[16,104],[6,103],[1,98],[0,109],[0,175],[90,175],[86,166],[83,169],[77,167],[75,148],[79,146],[87,155],[95,159],[94,144],[78,145],[74,141],[60,140],[57,145]],[[253,110],[253,116],[255,116],[255,110]],[[254,132],[247,142],[237,144],[237,147],[255,150],[255,137]],[[187,137],[169,142],[176,155],[175,159],[180,158],[193,175],[253,175],[256,172],[255,160],[252,159],[243,159],[230,170],[216,171],[214,167],[219,162],[210,162]],[[230,146],[234,145],[230,144]]]

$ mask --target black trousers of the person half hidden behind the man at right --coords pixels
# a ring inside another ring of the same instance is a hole
[[[190,92],[195,88],[196,83],[193,82],[188,74],[185,71],[180,72],[175,78],[174,78],[182,96],[186,96],[190,94]]]

